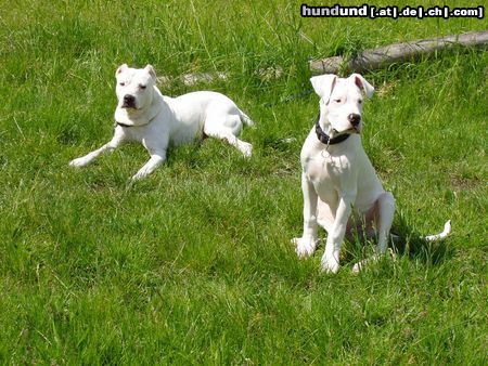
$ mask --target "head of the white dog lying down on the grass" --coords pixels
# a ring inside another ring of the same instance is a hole
[[[115,71],[115,78],[117,79],[115,91],[119,108],[143,109],[151,105],[156,83],[156,73],[153,66],[131,68],[124,64]]]

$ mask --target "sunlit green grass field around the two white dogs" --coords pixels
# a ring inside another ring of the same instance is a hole
[[[290,244],[301,230],[299,151],[318,110],[307,60],[486,19],[304,19],[299,4],[2,1],[1,364],[488,362],[486,52],[365,75],[376,95],[363,143],[407,238],[396,261],[354,275],[370,249],[349,243],[339,273],[325,275],[323,247],[299,261]],[[256,121],[243,133],[255,155],[207,140],[172,149],[136,184],[142,146],[70,169],[111,138],[123,63],[228,73],[162,91],[231,96]],[[256,73],[277,66],[278,79]],[[416,239],[447,219],[445,243]]]

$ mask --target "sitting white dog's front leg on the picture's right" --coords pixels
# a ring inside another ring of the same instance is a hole
[[[341,197],[335,214],[332,231],[328,233],[325,252],[322,257],[322,270],[324,272],[336,273],[339,269],[341,246],[346,234],[347,221],[351,212],[351,202],[349,197]]]

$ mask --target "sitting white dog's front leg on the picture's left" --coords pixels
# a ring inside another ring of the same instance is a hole
[[[299,258],[313,254],[317,247],[317,201],[319,197],[313,184],[305,173],[301,173],[301,192],[304,194],[304,235],[293,239]]]

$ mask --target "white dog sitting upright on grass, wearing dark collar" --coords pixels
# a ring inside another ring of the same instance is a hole
[[[352,230],[368,237],[377,235],[377,252],[385,253],[395,198],[383,188],[361,144],[362,104],[364,95],[373,95],[373,87],[358,74],[347,79],[322,75],[310,81],[320,96],[320,114],[301,148],[304,233],[293,241],[300,258],[311,256],[317,225],[323,226],[328,239],[322,270],[335,273],[344,237]],[[440,239],[449,232],[448,221],[444,233],[425,239]],[[354,271],[367,262],[357,263]]]

